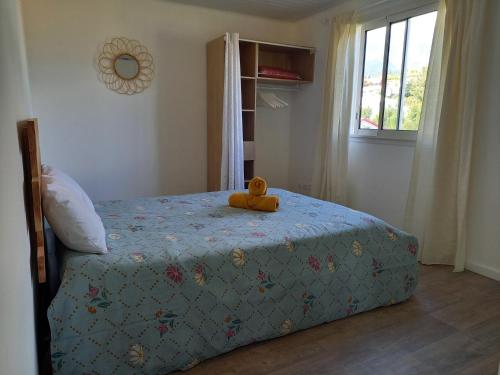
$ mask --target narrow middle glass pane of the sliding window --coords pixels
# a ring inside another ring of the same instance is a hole
[[[406,21],[393,23],[391,25],[391,41],[389,43],[389,61],[387,65],[387,85],[384,103],[384,129],[398,128],[405,32]]]

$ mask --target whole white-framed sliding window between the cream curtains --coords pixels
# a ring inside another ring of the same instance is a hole
[[[363,27],[356,134],[415,138],[436,16],[420,11]]]

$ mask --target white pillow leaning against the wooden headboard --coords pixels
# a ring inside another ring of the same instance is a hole
[[[87,253],[107,253],[106,232],[101,218],[83,189],[67,177],[71,181],[57,175],[42,174],[45,217],[68,248]]]

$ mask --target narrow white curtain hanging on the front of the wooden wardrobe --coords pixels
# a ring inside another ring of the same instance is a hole
[[[244,189],[239,34],[226,33],[221,190]]]

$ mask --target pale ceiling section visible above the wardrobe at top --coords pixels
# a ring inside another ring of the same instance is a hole
[[[170,0],[254,16],[296,21],[349,0]]]

